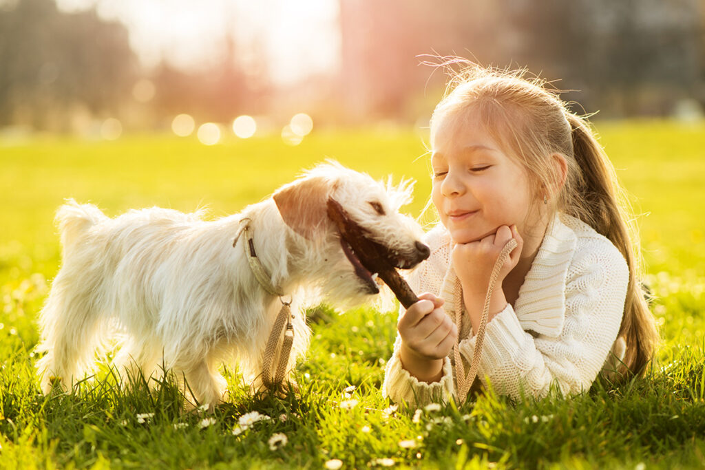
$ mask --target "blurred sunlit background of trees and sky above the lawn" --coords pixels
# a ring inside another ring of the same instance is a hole
[[[0,0],[0,137],[427,125],[458,55],[599,118],[699,120],[705,0]]]

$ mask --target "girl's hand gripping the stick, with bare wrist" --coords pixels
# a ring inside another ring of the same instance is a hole
[[[443,299],[429,294],[399,318],[400,357],[404,369],[422,382],[437,382],[443,375],[443,358],[458,338],[458,328],[441,309]]]

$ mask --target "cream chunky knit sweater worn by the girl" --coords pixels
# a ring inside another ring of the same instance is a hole
[[[427,233],[426,242],[431,256],[408,280],[418,294],[439,295],[450,267],[450,235],[439,224]],[[625,344],[617,334],[628,281],[627,263],[606,237],[577,218],[559,214],[514,307],[508,304],[487,323],[479,378],[485,385],[489,378],[496,392],[515,398],[522,391],[544,397],[553,383],[565,395],[587,390],[603,366],[624,357]],[[474,336],[460,341],[466,371],[474,342]],[[455,395],[450,357],[443,359],[439,382],[419,382],[403,368],[400,345],[397,335],[386,366],[385,396],[422,406]]]

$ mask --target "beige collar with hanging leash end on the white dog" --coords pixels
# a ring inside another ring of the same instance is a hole
[[[289,299],[288,302],[284,302],[282,299],[284,293],[271,283],[271,277],[266,272],[264,266],[262,266],[262,262],[259,261],[257,253],[255,252],[255,242],[252,238],[252,227],[250,223],[252,223],[250,218],[243,218],[243,220],[240,221],[240,229],[237,235],[235,235],[233,247],[237,245],[240,235],[245,234],[243,247],[247,261],[250,263],[252,273],[255,275],[255,278],[257,278],[257,282],[262,285],[262,288],[271,295],[277,295],[281,302],[281,309],[279,309],[279,313],[274,320],[274,326],[272,326],[271,333],[269,333],[269,339],[266,342],[264,356],[262,357],[262,383],[264,383],[264,386],[269,388],[269,390],[275,390],[281,387],[281,383],[284,380],[286,364],[288,364],[291,346],[294,342],[294,326],[291,323],[291,300]],[[281,340],[282,333],[284,333],[283,340]],[[279,351],[278,359],[275,361],[274,359],[277,355],[280,341],[282,341],[281,350]],[[276,372],[274,373],[272,364],[276,364]]]

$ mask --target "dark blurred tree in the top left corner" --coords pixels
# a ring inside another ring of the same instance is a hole
[[[95,11],[61,13],[51,0],[0,9],[0,125],[66,130],[77,107],[118,113],[136,73],[127,30]]]

